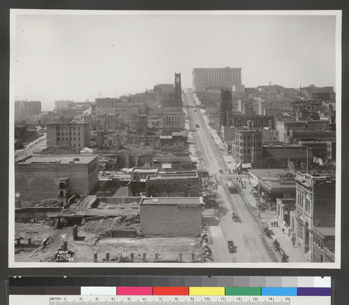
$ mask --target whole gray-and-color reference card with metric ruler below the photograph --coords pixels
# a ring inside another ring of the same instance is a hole
[[[196,281],[195,277],[170,277],[170,280],[167,278],[167,281],[163,281],[165,276],[10,278],[9,305],[331,304],[329,277],[255,276],[247,278],[247,281],[246,278],[197,277]],[[83,285],[78,286],[78,283]],[[96,283],[103,283],[104,286],[96,286]],[[110,285],[113,283],[118,285]],[[167,283],[169,286],[157,287],[151,285],[153,283]]]

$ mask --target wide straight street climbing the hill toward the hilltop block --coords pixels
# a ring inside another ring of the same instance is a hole
[[[185,105],[196,106],[193,94],[184,94]],[[279,256],[274,251],[272,240],[267,239],[262,234],[262,223],[258,219],[258,213],[246,197],[239,193],[230,194],[225,187],[228,177],[236,179],[237,175],[225,174],[227,169],[220,149],[211,134],[211,129],[205,123],[200,109],[187,107],[188,117],[191,118],[191,128],[195,128],[194,133],[197,151],[201,151],[203,164],[210,174],[216,174],[216,179],[220,181],[218,186],[218,199],[223,202],[223,216],[221,216],[221,229],[226,241],[234,241],[237,246],[237,253],[230,254],[232,262],[280,262]],[[197,125],[196,125],[197,126]],[[223,174],[219,172],[223,170]],[[241,176],[239,176],[241,177]],[[232,221],[232,211],[235,211],[241,219],[241,223]],[[214,247],[214,245],[212,245]],[[220,249],[226,251],[226,249]]]

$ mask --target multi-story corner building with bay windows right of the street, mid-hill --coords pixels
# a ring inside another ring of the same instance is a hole
[[[235,131],[235,161],[242,165],[250,163],[252,168],[261,168],[262,131],[253,131],[251,125],[252,122],[248,121],[247,129]]]

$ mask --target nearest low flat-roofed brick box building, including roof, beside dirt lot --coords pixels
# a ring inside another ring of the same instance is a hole
[[[198,235],[202,197],[142,198],[140,230],[144,235]]]

